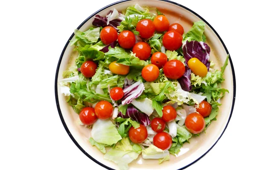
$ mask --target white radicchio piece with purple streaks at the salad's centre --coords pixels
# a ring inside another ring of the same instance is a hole
[[[124,96],[121,99],[122,105],[130,104],[132,100],[139,97],[144,90],[145,90],[145,87],[142,82],[135,82],[134,84],[124,88],[123,89]]]

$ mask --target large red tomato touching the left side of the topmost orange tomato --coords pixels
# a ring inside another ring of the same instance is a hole
[[[140,32],[141,38],[150,38],[154,35],[155,26],[153,21],[144,19],[137,23],[136,31]]]

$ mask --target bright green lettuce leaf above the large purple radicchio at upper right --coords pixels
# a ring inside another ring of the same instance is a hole
[[[205,23],[203,21],[198,21],[195,22],[192,28],[185,34],[183,35],[183,40],[182,43],[186,41],[206,41],[206,37],[204,36],[204,26]]]

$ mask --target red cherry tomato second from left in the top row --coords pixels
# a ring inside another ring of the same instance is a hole
[[[129,49],[135,44],[135,36],[131,31],[122,31],[118,35],[118,43],[122,48]]]

